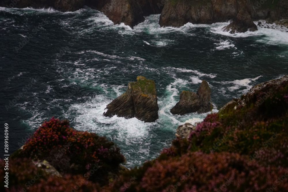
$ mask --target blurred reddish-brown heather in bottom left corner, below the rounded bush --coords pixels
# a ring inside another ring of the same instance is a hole
[[[0,160],[3,166],[5,162]],[[0,182],[4,182],[4,170],[0,169]],[[97,185],[83,175],[65,174],[55,176],[48,174],[45,168],[37,167],[31,159],[14,158],[9,161],[9,188],[2,187],[1,191],[77,191],[97,192]],[[98,187],[99,188],[99,187]]]

